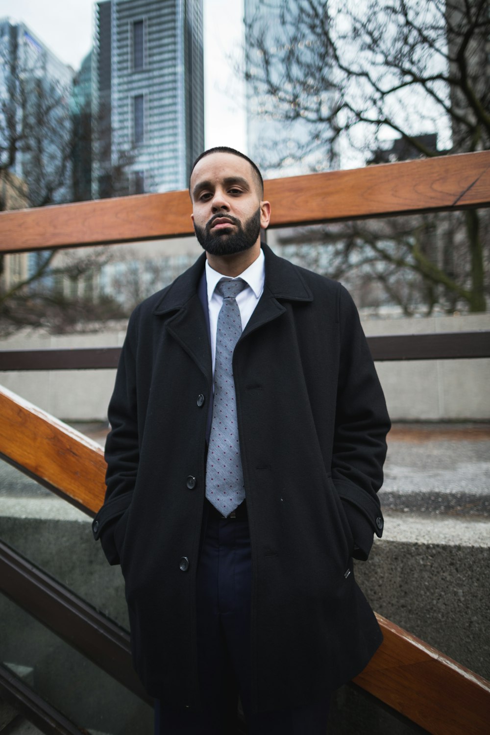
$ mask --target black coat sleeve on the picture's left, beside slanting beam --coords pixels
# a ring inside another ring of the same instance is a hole
[[[123,516],[129,508],[140,460],[137,423],[135,314],[129,320],[120,354],[114,392],[109,402],[111,431],[107,436],[107,491],[104,505],[93,520],[95,539],[100,539],[110,564],[119,564],[118,538],[123,535]],[[126,518],[127,520],[127,518]]]

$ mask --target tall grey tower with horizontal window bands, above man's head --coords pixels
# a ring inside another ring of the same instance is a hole
[[[202,0],[96,3],[93,197],[187,186],[204,146]]]

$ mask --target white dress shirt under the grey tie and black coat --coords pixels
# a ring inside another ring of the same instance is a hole
[[[260,250],[259,257],[253,261],[252,265],[249,265],[243,273],[240,273],[237,278],[248,283],[248,288],[244,288],[237,295],[237,304],[240,311],[240,317],[242,318],[242,331],[247,326],[248,320],[253,314],[253,309],[259,303],[259,298],[262,296],[264,290],[265,280],[265,265],[264,265],[264,253],[262,248]],[[211,331],[211,356],[212,356],[212,368],[213,377],[215,376],[215,355],[216,355],[216,331],[217,331],[217,316],[220,313],[221,306],[223,305],[223,296],[220,293],[216,293],[215,288],[217,282],[222,279],[228,279],[228,276],[223,276],[223,273],[218,273],[217,270],[213,270],[206,260],[206,283],[208,287],[208,309],[209,309],[209,328]],[[235,281],[236,279],[228,279]]]

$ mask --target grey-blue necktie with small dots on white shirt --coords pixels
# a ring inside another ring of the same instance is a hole
[[[215,289],[223,296],[223,306],[217,318],[215,401],[206,464],[206,498],[224,517],[245,500],[232,361],[242,334],[235,297],[247,286],[242,279],[221,279]]]

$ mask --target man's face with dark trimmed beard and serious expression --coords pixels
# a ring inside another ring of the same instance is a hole
[[[260,243],[268,203],[248,161],[228,153],[205,156],[192,171],[190,193],[195,235],[207,253],[233,255]]]

